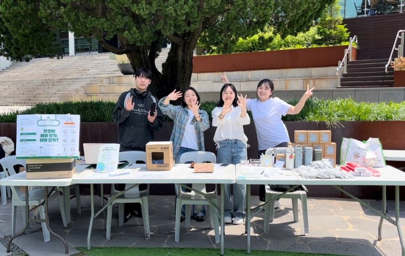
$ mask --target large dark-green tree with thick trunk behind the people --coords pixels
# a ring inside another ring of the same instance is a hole
[[[0,27],[4,52],[12,59],[54,56],[52,31],[69,29],[94,36],[110,52],[127,54],[133,68],[153,73],[157,97],[189,86],[192,56],[200,37],[230,51],[239,37],[271,25],[282,36],[307,29],[333,0],[2,0]],[[11,21],[15,18],[15,21]],[[108,43],[117,36],[120,48]],[[7,38],[7,39],[6,39]],[[155,65],[162,41],[171,42],[163,72]],[[19,40],[19,42],[16,42]],[[36,42],[37,41],[37,42]]]

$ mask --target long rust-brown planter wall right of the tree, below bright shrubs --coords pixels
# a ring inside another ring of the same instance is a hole
[[[193,73],[337,66],[347,46],[193,57]],[[353,59],[357,49],[353,51]]]

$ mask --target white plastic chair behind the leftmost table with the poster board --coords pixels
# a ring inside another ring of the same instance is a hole
[[[14,170],[15,165],[21,164],[21,165],[25,166],[25,159],[17,159],[15,155],[8,156],[8,157],[4,157],[4,158],[0,159],[0,164],[3,166],[6,177],[9,177],[11,175],[16,174],[16,172]],[[21,207],[22,220],[23,220],[23,223],[26,222],[25,193],[23,193],[20,190],[19,186],[10,186],[10,188],[11,188],[11,191],[13,194],[12,207],[11,207],[11,222],[12,222],[11,235],[14,236],[15,229],[16,229],[16,215],[17,215],[18,206],[22,206]],[[45,200],[44,194],[45,194],[44,189],[39,188],[39,187],[33,187],[32,190],[30,190],[28,192],[28,198],[29,198],[28,205],[36,206],[36,205],[42,204]],[[66,227],[66,215],[65,215],[64,205],[63,205],[63,196],[61,195],[61,192],[56,191],[49,197],[49,199],[53,199],[55,197],[57,197],[57,199],[58,199],[63,226]],[[39,210],[39,217],[41,217],[41,219],[45,219],[44,205],[39,206],[38,210]],[[44,236],[44,242],[50,241],[51,240],[50,233],[49,233],[49,230],[48,230],[45,222],[42,222],[41,226],[42,226],[42,232],[43,232],[43,236]]]

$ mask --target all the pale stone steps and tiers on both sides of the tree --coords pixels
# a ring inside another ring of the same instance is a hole
[[[166,61],[169,49],[163,49],[156,66]],[[229,80],[240,92],[254,92],[258,82],[270,78],[275,90],[337,87],[336,67],[292,68],[228,72]],[[205,101],[218,100],[223,83],[219,72],[193,73],[191,86],[205,94]],[[0,72],[0,105],[34,105],[39,102],[103,100],[116,101],[122,92],[135,87],[132,75],[122,75],[110,54],[94,54],[57,59],[33,59],[15,63]],[[210,96],[212,95],[212,96]]]

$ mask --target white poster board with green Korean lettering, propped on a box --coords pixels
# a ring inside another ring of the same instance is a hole
[[[17,115],[17,158],[79,158],[80,115]]]

